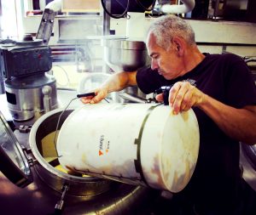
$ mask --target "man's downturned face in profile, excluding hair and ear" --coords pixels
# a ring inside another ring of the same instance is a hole
[[[147,48],[148,55],[151,58],[152,70],[157,70],[167,80],[172,80],[179,76],[179,72],[182,71],[182,62],[172,47],[169,50],[161,48],[157,45],[154,34],[149,33]]]

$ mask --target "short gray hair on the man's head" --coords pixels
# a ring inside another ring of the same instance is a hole
[[[195,45],[195,32],[191,25],[176,15],[164,15],[157,18],[149,26],[148,33],[153,33],[156,43],[166,50],[171,48],[173,37],[183,37],[189,45]]]

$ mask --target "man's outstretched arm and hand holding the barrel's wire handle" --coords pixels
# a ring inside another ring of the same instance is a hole
[[[102,101],[108,96],[108,93],[115,91],[120,91],[129,86],[137,85],[136,81],[137,71],[122,71],[114,73],[108,78],[106,82],[102,84],[100,88],[96,88],[94,92],[96,93],[95,97],[87,96],[81,98],[81,101],[84,104],[94,104]]]

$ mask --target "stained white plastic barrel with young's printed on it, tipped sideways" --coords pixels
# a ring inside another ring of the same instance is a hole
[[[156,104],[84,105],[57,139],[67,170],[172,192],[189,183],[198,150],[194,111],[174,116],[170,106]]]

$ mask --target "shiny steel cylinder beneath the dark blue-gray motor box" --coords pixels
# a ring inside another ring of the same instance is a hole
[[[31,119],[34,112],[44,111],[44,86],[51,88],[51,109],[57,107],[55,77],[48,74],[12,78],[5,81],[9,111],[16,121]]]

